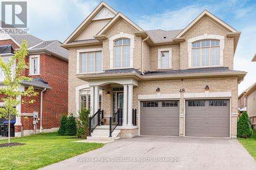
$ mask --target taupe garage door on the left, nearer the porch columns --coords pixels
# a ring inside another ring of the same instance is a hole
[[[179,136],[179,101],[141,102],[140,134]]]

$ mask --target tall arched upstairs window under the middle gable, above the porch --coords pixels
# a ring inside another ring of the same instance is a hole
[[[130,67],[131,40],[123,38],[114,42],[114,67]]]

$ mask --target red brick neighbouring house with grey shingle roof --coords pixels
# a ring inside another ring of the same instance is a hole
[[[60,117],[68,113],[68,51],[60,46],[57,40],[44,41],[30,34],[0,34],[1,57],[5,61],[14,55],[22,43],[28,41],[29,55],[26,62],[29,67],[24,75],[33,78],[32,81],[23,82],[19,90],[33,86],[38,95],[33,104],[16,106],[20,116],[14,117],[15,136],[34,133],[33,115],[37,113],[37,132],[51,132],[59,128]],[[3,71],[0,70],[0,86],[4,81]],[[3,95],[0,96],[1,99]],[[28,97],[23,97],[29,101]],[[4,102],[0,101],[0,106]],[[2,123],[4,119],[0,119]]]

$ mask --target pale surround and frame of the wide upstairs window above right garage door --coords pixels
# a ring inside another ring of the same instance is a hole
[[[195,42],[195,41],[208,40],[208,39],[219,40],[220,41],[220,56],[219,56],[220,61],[219,61],[219,65],[198,66],[198,67],[220,67],[220,66],[223,66],[223,53],[224,53],[224,47],[225,47],[224,46],[225,37],[222,36],[222,35],[204,34],[204,35],[193,37],[193,38],[190,38],[190,39],[187,40],[188,68],[197,68],[197,67],[193,67],[193,65],[192,65],[192,43]],[[201,60],[200,60],[200,62],[201,62]],[[201,65],[201,63],[200,63],[200,65]]]

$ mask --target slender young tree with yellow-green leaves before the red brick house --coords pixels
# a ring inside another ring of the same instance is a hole
[[[16,110],[17,105],[24,104],[22,96],[36,96],[38,93],[34,91],[33,86],[29,86],[25,91],[19,90],[23,81],[31,81],[32,78],[23,76],[25,68],[28,64],[25,62],[25,58],[28,56],[28,42],[23,40],[19,51],[15,51],[14,55],[10,57],[8,63],[5,63],[2,57],[0,57],[0,67],[4,72],[4,85],[0,88],[0,94],[4,94],[2,100],[5,102],[5,107],[0,108],[0,118],[8,119],[8,143],[10,140],[10,120],[14,116],[20,116]],[[35,100],[31,99],[28,103],[33,103]]]

